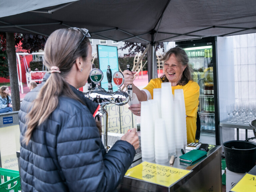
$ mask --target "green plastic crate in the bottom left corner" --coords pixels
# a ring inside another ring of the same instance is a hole
[[[2,183],[2,179],[4,182]],[[0,192],[21,191],[19,171],[0,168]]]

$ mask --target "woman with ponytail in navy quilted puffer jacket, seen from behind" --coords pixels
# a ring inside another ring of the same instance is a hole
[[[22,191],[114,191],[139,147],[136,129],[106,153],[99,105],[83,97],[91,70],[92,47],[85,29],[59,29],[45,45],[51,69],[27,93],[19,111]]]

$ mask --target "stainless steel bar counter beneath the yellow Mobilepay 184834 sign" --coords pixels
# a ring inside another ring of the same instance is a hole
[[[175,158],[172,165],[170,165],[169,162],[163,164],[156,163],[159,165],[191,170],[189,174],[169,187],[124,176],[117,190],[119,192],[222,191],[221,146],[209,145],[209,148],[210,147],[212,148],[208,151],[207,156],[202,157],[192,164],[179,161],[179,156],[182,155],[181,152],[176,152],[177,158]],[[186,152],[188,152],[188,150],[186,150]],[[133,162],[131,167],[134,167],[141,162],[142,159],[139,159]],[[155,161],[149,162],[155,163]]]

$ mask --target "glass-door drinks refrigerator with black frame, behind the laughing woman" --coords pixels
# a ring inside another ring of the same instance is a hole
[[[218,51],[218,43],[221,44],[221,42],[217,42],[217,39],[217,37],[206,37],[179,41],[175,44],[186,51],[189,64],[193,69],[192,77],[200,86],[198,106],[201,121],[200,142],[220,145],[218,85],[220,79],[218,78],[217,52],[221,52],[221,50]],[[220,38],[220,41],[222,40],[225,39]],[[223,57],[226,55],[224,54]],[[224,59],[221,59],[220,63],[222,61]],[[222,111],[225,112],[224,109]]]

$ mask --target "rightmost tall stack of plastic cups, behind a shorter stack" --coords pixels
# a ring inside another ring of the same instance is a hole
[[[174,98],[181,101],[180,106],[181,106],[182,123],[183,123],[182,127],[184,130],[183,143],[184,143],[184,146],[186,146],[187,145],[187,124],[186,124],[186,108],[185,108],[183,89],[175,89]]]

